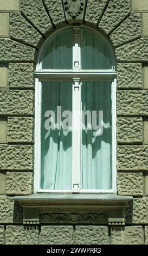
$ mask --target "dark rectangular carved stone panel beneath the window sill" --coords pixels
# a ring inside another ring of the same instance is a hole
[[[44,213],[40,216],[41,223],[83,223],[83,224],[93,224],[93,223],[108,223],[107,213],[89,213],[89,214],[79,214],[79,213]]]

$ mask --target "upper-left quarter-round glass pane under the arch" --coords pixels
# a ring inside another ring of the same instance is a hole
[[[73,31],[68,29],[49,42],[42,56],[42,69],[72,69]]]

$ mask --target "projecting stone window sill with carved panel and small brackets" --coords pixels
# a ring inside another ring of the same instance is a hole
[[[23,207],[23,223],[125,224],[130,196],[117,194],[34,194],[9,197]]]

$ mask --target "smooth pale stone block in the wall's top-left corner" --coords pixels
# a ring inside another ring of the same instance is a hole
[[[19,11],[20,9],[20,0],[0,0],[0,10],[1,11]]]

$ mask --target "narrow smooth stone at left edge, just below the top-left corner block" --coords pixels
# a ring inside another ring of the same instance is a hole
[[[0,13],[0,36],[9,36],[9,13]]]

